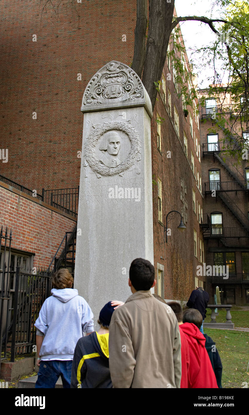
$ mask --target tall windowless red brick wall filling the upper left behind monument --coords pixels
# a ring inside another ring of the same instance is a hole
[[[60,21],[49,3],[41,17],[45,3],[0,2],[0,148],[9,150],[0,173],[38,192],[78,186],[83,92],[108,61],[131,64],[136,25],[135,0],[65,1]]]

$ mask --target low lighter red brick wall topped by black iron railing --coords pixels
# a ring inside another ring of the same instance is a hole
[[[2,186],[0,206],[0,226],[7,226],[8,235],[12,228],[12,249],[35,254],[33,266],[37,268],[49,266],[65,233],[76,225],[75,220]]]

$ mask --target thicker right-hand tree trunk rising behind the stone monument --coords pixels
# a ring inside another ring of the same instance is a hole
[[[171,34],[175,0],[150,0],[149,31],[146,44],[142,82],[151,99],[152,109],[156,102],[156,85],[166,60],[168,41]],[[136,41],[136,39],[135,39]]]

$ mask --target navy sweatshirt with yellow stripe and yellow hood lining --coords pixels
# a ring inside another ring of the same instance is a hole
[[[76,344],[71,388],[112,388],[109,370],[109,333],[91,333]]]

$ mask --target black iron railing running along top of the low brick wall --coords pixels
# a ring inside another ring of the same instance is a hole
[[[5,176],[0,175],[0,181],[26,193],[27,195],[35,197],[48,205],[56,207],[68,215],[73,217],[78,216],[79,186],[76,188],[66,189],[42,189],[42,194],[39,194],[36,189],[28,189],[27,187],[22,186]]]

